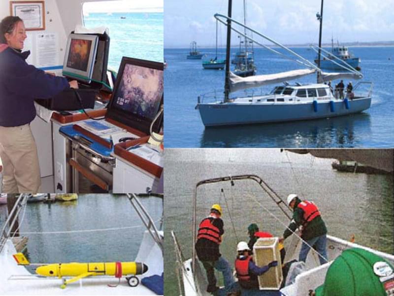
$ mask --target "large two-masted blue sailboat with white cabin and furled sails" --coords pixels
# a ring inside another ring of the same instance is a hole
[[[215,14],[215,18],[227,25],[227,60],[230,56],[231,30],[252,40],[265,49],[292,60],[304,69],[276,74],[263,74],[250,77],[240,77],[230,72],[230,63],[226,63],[226,77],[224,92],[210,92],[198,96],[196,109],[199,111],[204,126],[223,126],[237,124],[253,124],[267,122],[283,122],[327,118],[358,113],[368,109],[371,105],[372,82],[359,82],[353,92],[346,98],[335,96],[330,87],[324,82],[334,79],[361,79],[362,74],[350,65],[343,66],[346,73],[324,73],[319,67],[304,59],[293,50],[280,44],[252,28],[231,18],[231,0],[229,0],[228,16]],[[284,52],[268,47],[255,37],[246,35],[231,24],[236,24],[262,37],[265,40],[284,49]],[[317,46],[315,46],[316,48]],[[322,50],[321,46],[317,47]],[[345,62],[343,62],[345,63]],[[306,69],[305,69],[306,68]],[[287,81],[301,78],[310,74],[317,74],[317,83],[289,85]],[[263,85],[284,83],[277,86],[273,92],[263,94],[263,91],[253,91],[252,94],[239,96],[230,93]],[[223,96],[224,93],[224,96]]]

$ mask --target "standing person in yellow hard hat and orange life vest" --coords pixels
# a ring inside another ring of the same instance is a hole
[[[209,293],[214,293],[219,289],[216,286],[214,269],[222,272],[225,289],[229,288],[234,282],[229,261],[219,253],[219,246],[222,243],[224,233],[221,216],[221,206],[218,204],[212,205],[209,216],[200,222],[197,233],[196,252],[198,259],[206,270],[208,279],[206,291]]]

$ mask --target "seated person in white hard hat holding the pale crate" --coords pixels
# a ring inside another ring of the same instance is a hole
[[[249,251],[250,249],[246,242],[238,243],[238,256],[234,263],[238,284],[246,290],[259,290],[257,276],[267,272],[269,268],[277,266],[278,261],[271,261],[268,265],[259,267],[253,262]],[[242,291],[241,295],[245,295],[245,293]]]

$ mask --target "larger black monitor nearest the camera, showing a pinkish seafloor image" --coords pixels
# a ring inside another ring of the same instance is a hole
[[[149,134],[163,104],[163,63],[123,57],[108,105],[107,117]],[[158,132],[163,116],[153,126]]]

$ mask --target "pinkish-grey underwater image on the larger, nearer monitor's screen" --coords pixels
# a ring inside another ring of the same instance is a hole
[[[118,91],[114,94],[115,106],[153,119],[160,108],[163,87],[162,70],[126,64]]]

